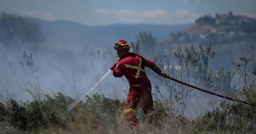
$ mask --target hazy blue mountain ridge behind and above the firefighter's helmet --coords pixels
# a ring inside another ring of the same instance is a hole
[[[135,41],[136,35],[145,31],[151,32],[158,40],[166,39],[170,33],[181,32],[192,23],[172,24],[172,25],[154,25],[154,24],[112,24],[106,26],[91,27],[69,21],[44,21],[41,19],[30,18],[40,24],[41,30],[46,34],[58,34],[82,37],[90,40],[117,41],[124,39]]]

